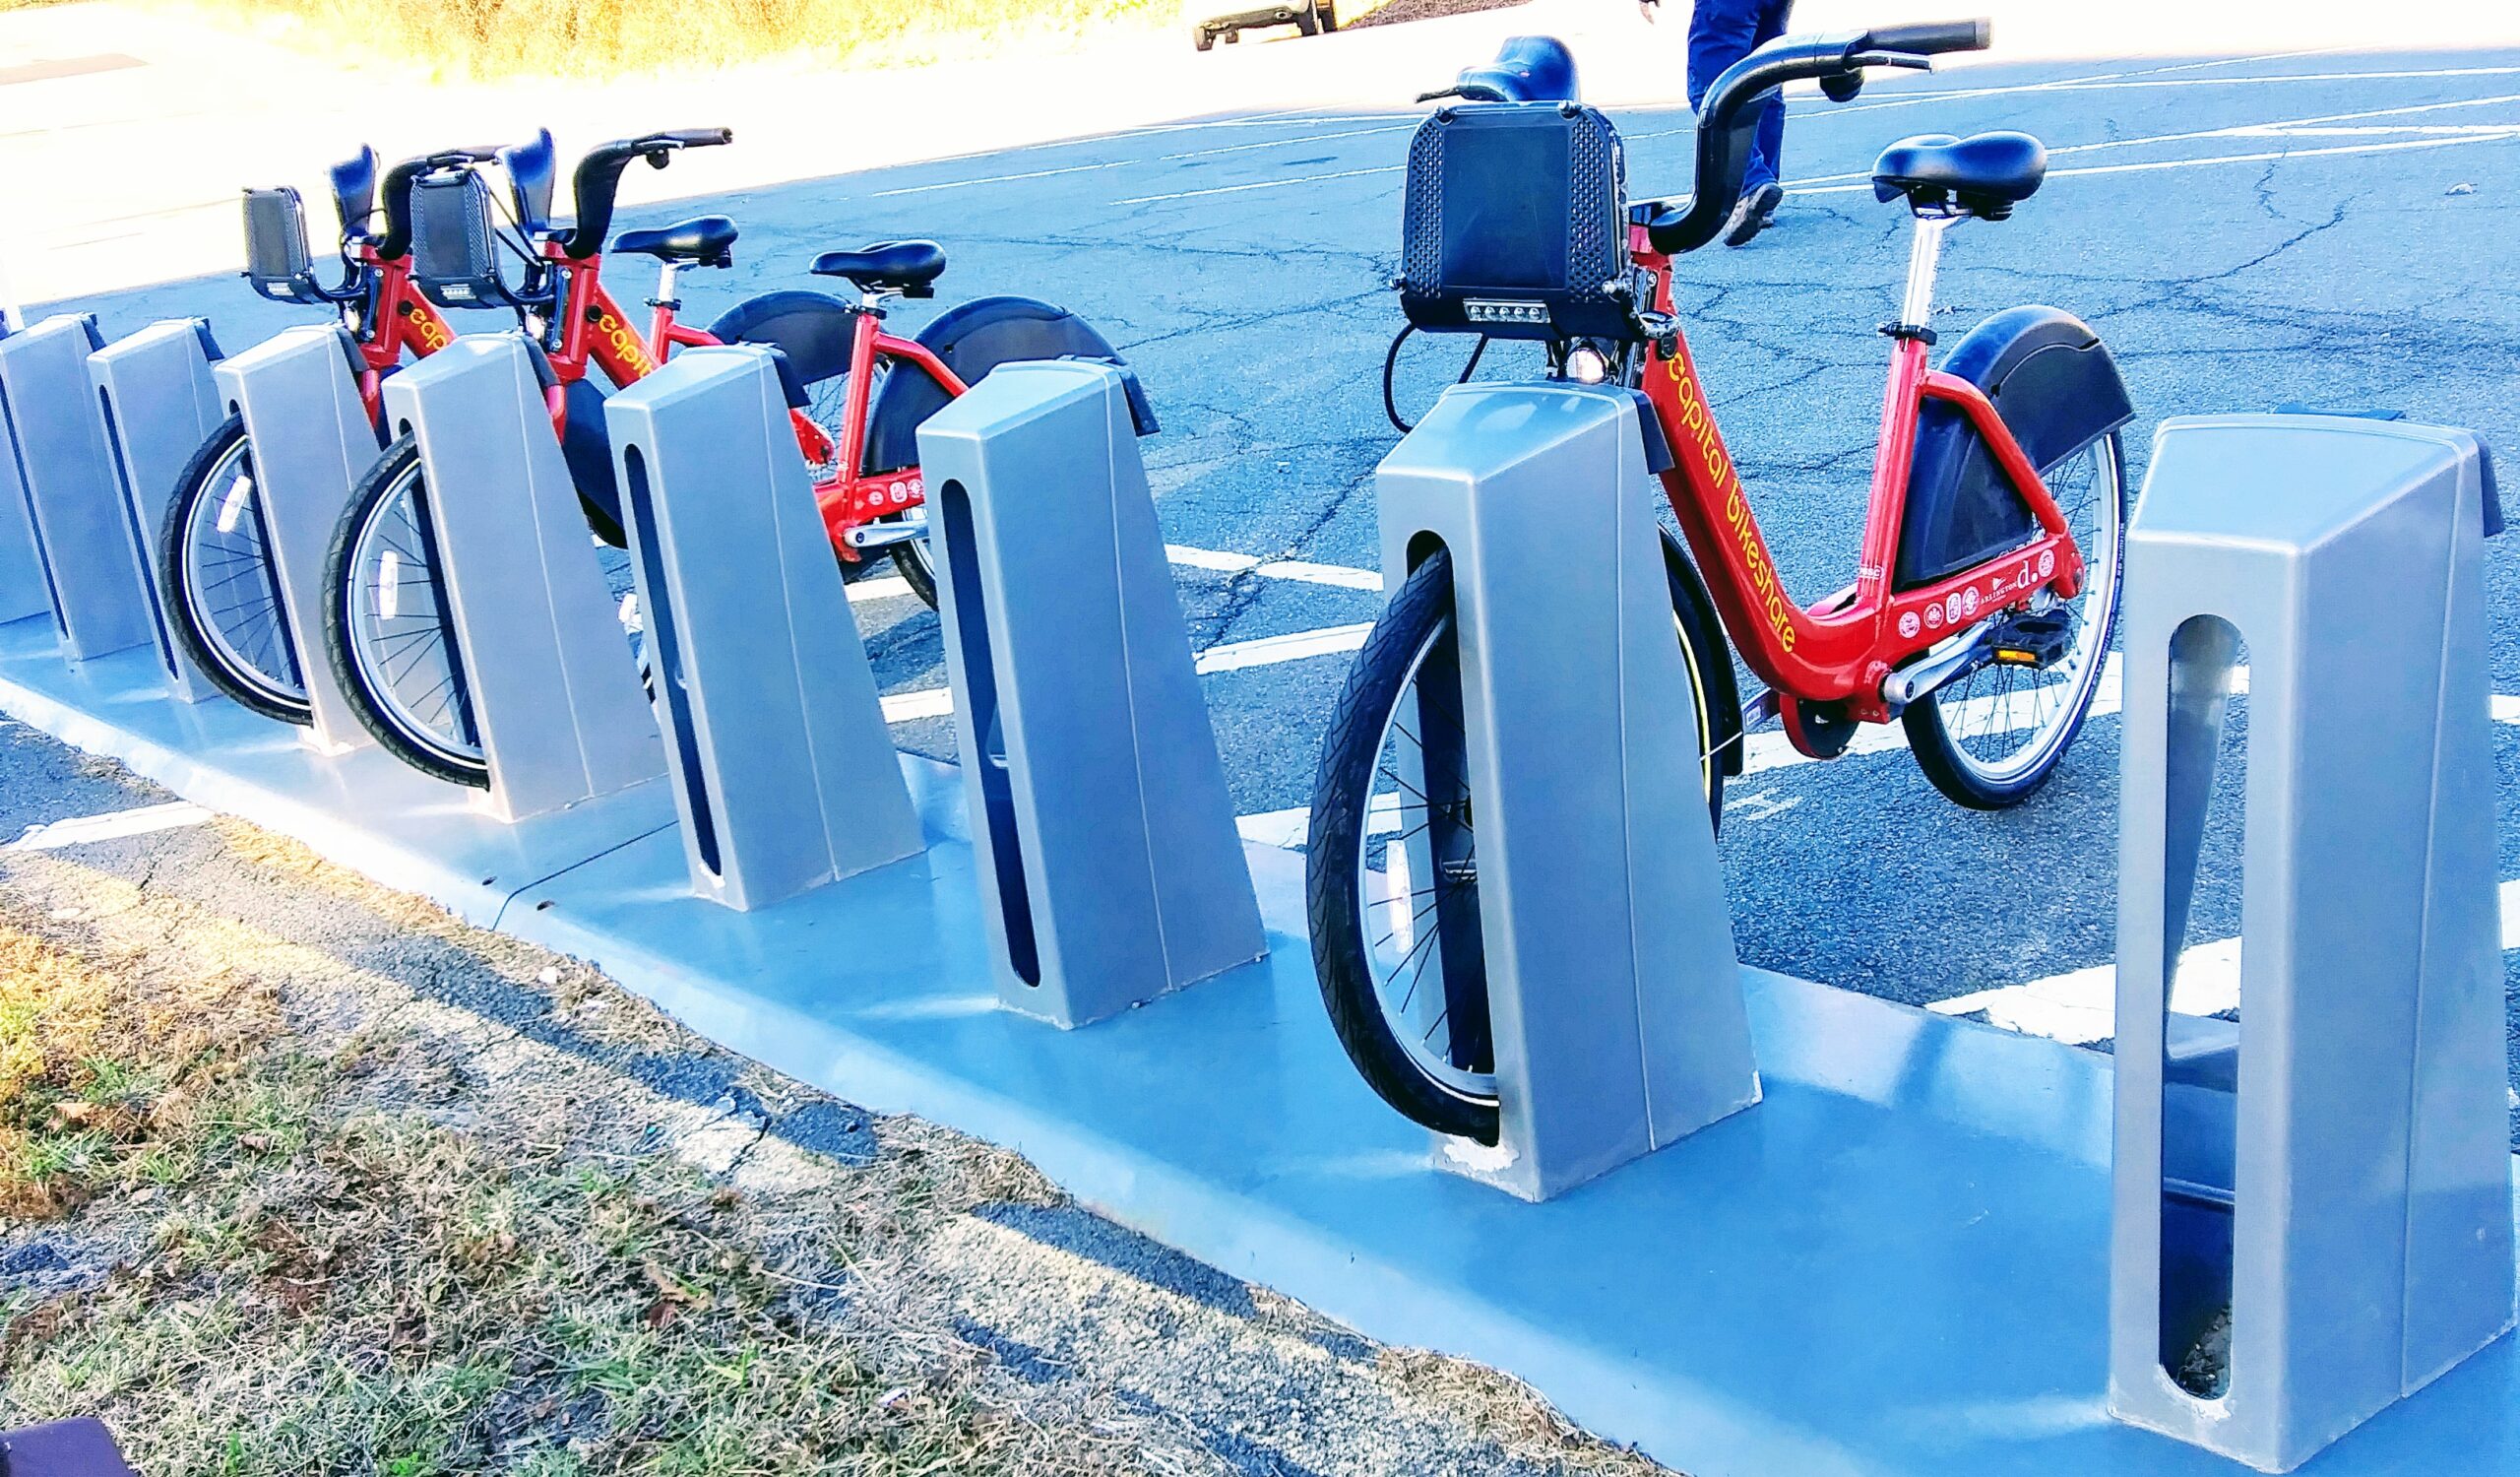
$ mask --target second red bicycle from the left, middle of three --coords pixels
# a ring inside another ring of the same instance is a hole
[[[915,340],[885,333],[885,300],[930,297],[945,272],[935,242],[824,252],[811,270],[857,285],[857,302],[784,290],[738,302],[716,323],[678,320],[685,267],[731,267],[736,224],[721,214],[622,232],[615,255],[658,260],[645,333],[602,285],[602,257],[622,171],[663,169],[683,149],[728,144],[726,129],[648,134],[602,144],[575,171],[577,219],[549,224],[549,134],[501,149],[509,219],[496,219],[476,159],[446,159],[411,181],[413,282],[449,307],[507,307],[547,371],[552,428],[587,527],[620,547],[620,491],[605,436],[607,386],[635,383],[678,348],[761,343],[779,350],[796,451],[804,456],[844,567],[892,555],[905,582],[935,602],[917,426],[1008,358],[1114,358],[1079,318],[1028,297],[983,297],[932,320]],[[391,754],[456,784],[489,784],[471,691],[438,592],[428,486],[411,436],[386,446],[333,537],[325,645],[350,708]],[[627,607],[625,607],[627,618]]]

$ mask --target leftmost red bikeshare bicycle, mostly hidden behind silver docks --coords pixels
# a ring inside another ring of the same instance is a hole
[[[330,169],[340,219],[340,275],[325,282],[307,247],[295,189],[244,192],[244,280],[272,302],[330,307],[353,345],[358,396],[373,418],[378,386],[403,358],[444,348],[454,330],[411,285],[408,181],[436,159],[489,159],[456,149],[406,159],[386,176],[378,219],[375,149]],[[285,723],[307,723],[305,653],[280,610],[262,486],[244,418],[224,418],[192,454],[159,527],[159,587],[171,595],[174,638],[222,693]]]

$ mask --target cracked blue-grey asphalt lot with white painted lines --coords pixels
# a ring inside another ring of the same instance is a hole
[[[1381,602],[1371,486],[1396,441],[1378,365],[1399,325],[1389,277],[1419,116],[1406,98],[1446,78],[1449,66],[1394,76],[1389,111],[1220,116],[617,224],[703,209],[743,222],[736,270],[685,277],[698,320],[806,285],[816,250],[912,234],[945,242],[953,267],[935,305],[900,305],[897,328],[983,292],[1091,318],[1164,421],[1144,449],[1245,832],[1300,844],[1323,721]],[[1618,108],[1615,121],[1635,192],[1688,187],[1686,108]],[[1991,66],[1882,81],[1850,106],[1799,96],[1777,227],[1749,250],[1683,260],[1681,315],[1802,600],[1852,577],[1887,358],[1872,330],[1905,272],[1908,217],[1872,199],[1867,166],[1893,139],[1978,129],[2039,134],[2051,171],[2011,222],[1953,232],[1943,313],[1953,330],[2013,302],[2089,320],[2139,408],[2132,476],[2162,416],[2286,403],[2397,408],[2520,454],[2520,50]],[[640,265],[617,262],[625,295],[645,297]],[[232,277],[76,307],[98,310],[108,333],[207,313],[232,345],[292,318]],[[2512,577],[2502,539],[2497,633],[2515,615]],[[945,683],[937,623],[882,590],[859,602],[877,673],[897,711],[935,713],[920,693]],[[2512,643],[2495,645],[2495,691],[2520,696]],[[948,718],[912,716],[895,733],[950,756]],[[2510,880],[2520,728],[2495,733]],[[1895,731],[1832,764],[1761,741],[1724,819],[1741,955],[2107,1041],[2117,736],[2117,718],[2097,716],[2059,779],[2006,814],[1943,802]],[[2208,897],[2195,938],[2235,933],[2230,897]]]

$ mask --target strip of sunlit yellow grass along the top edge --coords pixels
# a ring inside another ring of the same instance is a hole
[[[8,0],[0,0],[8,3]],[[920,66],[1172,25],[1177,0],[197,0],[370,63],[615,76],[796,55]]]

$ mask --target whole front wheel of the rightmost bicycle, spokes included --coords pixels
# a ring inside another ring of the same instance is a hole
[[[1724,807],[1719,693],[1731,658],[1666,539],[1673,628],[1698,713],[1693,761]],[[1477,827],[1462,726],[1452,557],[1436,552],[1376,620],[1320,749],[1305,837],[1313,973],[1348,1061],[1401,1114],[1497,1142]]]

